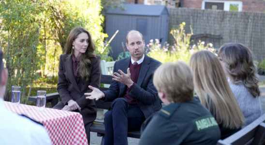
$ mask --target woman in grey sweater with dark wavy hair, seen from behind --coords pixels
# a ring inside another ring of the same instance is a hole
[[[228,77],[229,85],[245,116],[243,128],[261,116],[259,80],[252,53],[241,43],[226,43],[220,47],[218,56]]]

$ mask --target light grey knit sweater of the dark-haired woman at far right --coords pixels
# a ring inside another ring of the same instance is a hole
[[[243,82],[237,85],[233,84],[229,79],[228,82],[245,116],[245,124],[242,126],[244,128],[261,116],[260,97],[254,98]]]

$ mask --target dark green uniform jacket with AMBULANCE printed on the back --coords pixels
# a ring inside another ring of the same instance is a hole
[[[197,98],[171,103],[147,118],[139,145],[216,145],[218,124]]]

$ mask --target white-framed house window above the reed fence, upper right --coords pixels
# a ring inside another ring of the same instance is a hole
[[[203,0],[202,9],[242,11],[242,1]]]

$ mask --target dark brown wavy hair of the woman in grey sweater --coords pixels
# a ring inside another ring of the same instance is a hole
[[[226,43],[218,50],[218,56],[222,58],[225,70],[233,84],[239,84],[243,81],[244,86],[254,98],[260,96],[259,79],[256,74],[257,67],[248,47],[241,43]]]

